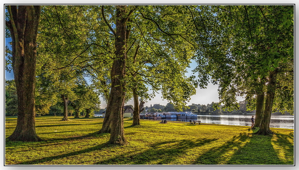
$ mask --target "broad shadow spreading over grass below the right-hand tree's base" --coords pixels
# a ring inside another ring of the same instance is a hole
[[[278,135],[279,145],[285,145],[287,137]],[[282,160],[271,144],[271,136],[246,135],[234,136],[226,144],[210,149],[200,155],[194,164],[205,165],[284,165],[292,164],[292,159]],[[286,155],[293,155],[290,150]]]

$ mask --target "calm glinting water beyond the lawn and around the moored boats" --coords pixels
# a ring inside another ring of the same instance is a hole
[[[251,126],[251,117],[252,115],[198,115],[197,120],[202,121],[202,123],[210,124]],[[190,120],[196,120],[196,118],[166,118],[166,120],[189,122]],[[271,116],[270,127],[294,129],[294,116]]]

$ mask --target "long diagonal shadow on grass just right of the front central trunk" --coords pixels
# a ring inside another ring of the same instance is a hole
[[[188,149],[203,146],[216,140],[217,139],[207,138],[198,139],[196,141],[173,139],[152,144],[149,146],[151,149],[145,150],[141,153],[127,152],[121,155],[117,155],[117,157],[100,161],[95,164],[112,165],[117,163],[120,165],[146,165],[150,164],[150,162],[155,162],[154,164],[157,165],[169,164],[170,162],[180,158],[181,155],[186,154],[188,152]],[[164,145],[167,146],[165,147]]]

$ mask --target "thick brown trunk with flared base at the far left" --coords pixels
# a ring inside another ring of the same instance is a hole
[[[41,7],[7,6],[12,39],[12,67],[18,96],[16,129],[10,141],[41,141],[35,132],[36,37]]]

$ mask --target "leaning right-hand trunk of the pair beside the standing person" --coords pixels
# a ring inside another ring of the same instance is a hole
[[[266,101],[265,101],[264,112],[262,114],[262,121],[259,126],[259,130],[254,134],[257,135],[273,134],[273,132],[270,130],[270,120],[272,114],[273,101],[275,97],[276,74],[277,74],[277,70],[270,71],[269,73],[269,81],[267,85]]]

